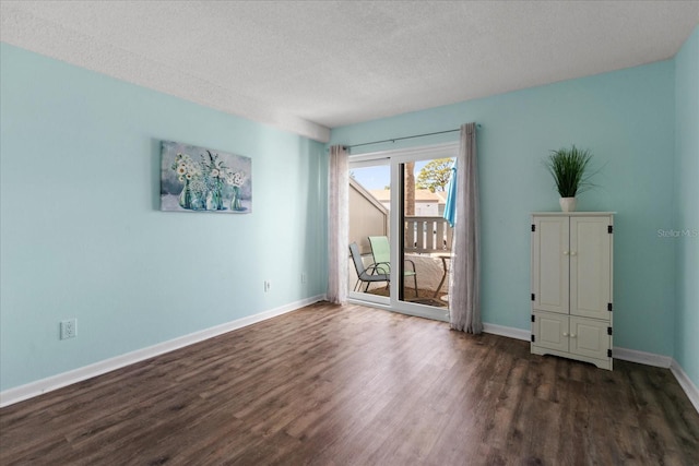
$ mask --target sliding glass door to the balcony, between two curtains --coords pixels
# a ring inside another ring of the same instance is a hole
[[[451,228],[442,215],[457,150],[351,156],[350,242],[360,258],[350,258],[351,299],[448,320]]]

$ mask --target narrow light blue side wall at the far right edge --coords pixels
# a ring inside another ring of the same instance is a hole
[[[699,386],[699,27],[675,57],[675,359]],[[680,234],[682,235],[682,234]]]

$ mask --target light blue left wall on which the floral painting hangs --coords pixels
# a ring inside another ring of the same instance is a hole
[[[0,390],[324,294],[322,144],[0,52]],[[253,213],[159,212],[161,140],[251,157]]]

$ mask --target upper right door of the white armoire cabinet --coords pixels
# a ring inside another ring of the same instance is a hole
[[[608,216],[570,218],[570,314],[609,319],[612,235]]]

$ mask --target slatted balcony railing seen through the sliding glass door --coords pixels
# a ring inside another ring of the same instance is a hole
[[[405,216],[405,253],[450,252],[453,228],[442,217]]]

